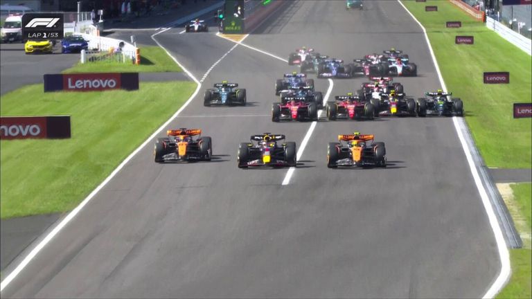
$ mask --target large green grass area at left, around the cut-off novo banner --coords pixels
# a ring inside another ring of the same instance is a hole
[[[139,91],[44,93],[35,84],[2,96],[2,116],[71,115],[72,138],[0,141],[0,217],[76,207],[195,87],[148,82]]]

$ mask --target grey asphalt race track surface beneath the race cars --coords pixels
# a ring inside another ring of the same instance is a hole
[[[397,80],[406,93],[437,89],[419,26],[396,1],[365,4],[360,12],[343,1],[290,2],[244,43],[284,59],[311,46],[346,61],[393,46],[418,65],[418,78]],[[199,80],[235,45],[211,29],[156,38]],[[323,119],[289,185],[281,185],[286,169],[236,167],[238,143],[251,134],[281,133],[301,145],[311,123],[270,117],[274,80],[294,70],[234,48],[171,126],[212,136],[213,161],[159,165],[145,147],[2,297],[483,296],[500,262],[452,119]],[[203,90],[221,80],[246,88],[249,105],[203,107]],[[333,80],[331,99],[363,80]],[[316,82],[325,93],[328,80]],[[387,169],[326,167],[327,143],[354,131],[386,143]]]

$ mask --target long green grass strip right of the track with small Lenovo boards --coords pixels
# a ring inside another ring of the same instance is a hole
[[[532,119],[513,118],[514,102],[531,102],[532,59],[449,1],[402,1],[427,30],[447,89],[463,100],[465,121],[486,165],[532,167]],[[425,12],[425,6],[438,6]],[[462,28],[445,28],[461,21]],[[472,35],[475,44],[454,44]],[[510,84],[484,84],[483,73],[509,71]]]

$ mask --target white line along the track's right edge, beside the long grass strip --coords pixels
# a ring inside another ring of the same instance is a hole
[[[427,30],[425,30],[425,27],[423,27],[420,21],[418,21],[418,19],[416,19],[416,17],[412,15],[412,13],[400,0],[397,0],[397,1],[402,6],[402,8],[405,8],[408,14],[423,29],[423,34],[425,35],[425,40],[427,41],[427,45],[429,46],[429,51],[432,57],[432,62],[434,62],[436,73],[438,73],[438,79],[440,80],[441,87],[443,88],[444,91],[447,91],[447,87],[445,87],[445,82],[443,81],[443,77],[441,75],[440,67],[438,66],[438,62],[436,61],[436,56],[434,55],[434,51],[432,50],[432,45],[430,44],[429,37],[427,35]],[[467,143],[465,142],[465,138],[463,137],[463,134],[461,132],[458,118],[454,116],[452,118],[452,122],[454,124],[454,129],[456,129],[456,134],[458,135],[458,138],[460,139],[460,143],[462,145],[465,157],[468,160],[471,174],[473,176],[473,179],[475,180],[475,185],[477,185],[477,190],[479,191],[479,195],[482,199],[484,209],[486,210],[486,214],[488,216],[490,226],[493,230],[493,235],[495,235],[495,240],[497,241],[499,258],[501,260],[501,270],[499,272],[499,275],[493,282],[493,284],[489,287],[488,291],[486,291],[484,296],[482,296],[482,298],[494,298],[497,295],[497,293],[501,291],[501,289],[504,287],[504,285],[510,278],[510,274],[511,274],[510,253],[508,252],[508,247],[506,246],[504,235],[502,234],[501,227],[499,226],[499,221],[497,221],[497,217],[495,216],[495,212],[493,211],[493,207],[491,206],[490,200],[488,198],[488,192],[486,192],[486,189],[484,188],[484,185],[482,184],[482,181],[480,179],[477,167],[475,167],[475,162],[472,159],[471,150],[468,147]]]

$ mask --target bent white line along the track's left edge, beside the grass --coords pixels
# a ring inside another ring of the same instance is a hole
[[[166,30],[169,30],[170,28],[167,28]],[[175,61],[175,63],[177,63],[177,65],[179,65],[179,67],[181,67],[181,69],[183,69],[183,71],[185,71],[185,73],[197,84],[197,87],[196,87],[196,90],[194,91],[194,93],[192,94],[192,96],[190,96],[190,98],[188,98],[188,100],[186,100],[186,102],[184,102],[184,104],[181,106],[181,108],[179,108],[179,110],[177,110],[175,112],[175,114],[173,114],[170,119],[166,120],[165,123],[163,123],[163,125],[161,125],[161,127],[159,127],[159,129],[157,129],[157,131],[155,131],[152,135],[150,135],[150,137],[148,137],[148,139],[146,139],[139,147],[137,147],[129,156],[127,156],[127,158],[124,159],[124,161],[122,161],[122,163],[120,163],[114,170],[113,172],[111,172],[111,174],[109,174],[109,176],[107,176],[107,178],[102,182],[100,183],[100,185],[98,185],[98,187],[96,187],[96,189],[94,189],[87,197],[85,197],[85,199],[76,207],[74,208],[71,212],[69,212],[69,214],[67,215],[67,217],[64,217],[64,219],[59,223],[57,224],[57,226],[55,226],[55,228],[53,228],[53,230],[51,230],[50,233],[48,233],[48,235],[46,235],[46,237],[44,237],[44,239],[42,239],[41,242],[39,242],[39,244],[37,244],[37,246],[35,246],[35,248],[33,248],[30,253],[28,253],[28,255],[26,255],[26,257],[24,257],[24,260],[22,260],[20,262],[20,264],[11,272],[9,273],[9,275],[6,276],[6,278],[4,278],[4,280],[2,280],[1,284],[0,284],[0,291],[3,291],[3,289],[5,289],[9,284],[10,282],[12,282],[12,280],[14,280],[17,275],[19,275],[19,273],[24,270],[24,268],[26,268],[26,266],[29,264],[29,262],[31,260],[33,260],[33,258],[37,255],[37,253],[39,253],[39,251],[42,250],[42,248],[44,248],[44,246],[46,246],[46,244],[48,244],[48,242],[51,241],[51,239],[53,239],[53,237],[55,237],[55,235],[57,235],[57,233],[60,232],[60,230],[62,230],[62,228],[64,228],[64,226],[66,226],[74,217],[76,217],[76,215],[78,215],[78,213],[82,210],[83,207],[85,207],[85,205],[87,205],[87,203],[89,203],[89,201],[91,201],[91,199],[94,198],[94,196],[96,196],[96,194],[103,188],[105,187],[105,185],[107,185],[107,183],[109,183],[109,181],[111,181],[111,179],[114,178],[114,176],[120,172],[120,170],[122,170],[122,168],[137,154],[141,151],[141,149],[143,149],[143,147],[145,147],[146,145],[148,145],[148,143],[150,141],[152,141],[152,139],[157,136],[157,134],[159,134],[159,132],[161,132],[166,126],[168,126],[170,124],[170,122],[172,122],[172,120],[174,120],[175,118],[177,118],[177,116],[181,113],[181,111],[183,111],[187,106],[188,104],[190,104],[190,102],[192,102],[193,98],[195,98],[195,96],[197,96],[197,93],[199,92],[199,89],[201,89],[202,87],[202,84],[194,77],[194,75],[192,73],[190,73],[190,71],[188,71],[183,65],[181,65],[177,59],[175,59],[175,57],[173,57],[169,52],[168,50],[166,50],[166,48],[164,48],[158,41],[157,39],[154,39],[154,36],[155,35],[158,35],[159,33],[163,33],[164,31],[166,30],[161,30],[157,33],[154,33],[151,37],[152,39],[154,40],[154,42],[157,43],[157,45],[159,45],[165,52],[166,54],[168,54],[170,57],[172,57],[172,60]]]

